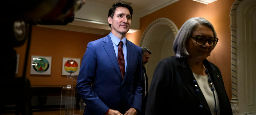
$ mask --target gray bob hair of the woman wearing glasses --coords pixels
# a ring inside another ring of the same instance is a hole
[[[189,55],[186,49],[186,42],[189,36],[195,31],[195,29],[199,25],[210,27],[213,31],[213,37],[217,37],[217,34],[212,26],[212,23],[208,20],[201,17],[194,17],[188,19],[182,25],[173,42],[173,50],[177,58],[182,58]]]

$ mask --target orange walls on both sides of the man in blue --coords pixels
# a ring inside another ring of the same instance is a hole
[[[223,81],[229,99],[231,99],[231,43],[229,12],[235,0],[218,0],[210,4],[202,4],[192,0],[180,0],[140,19],[140,30],[132,34],[127,33],[128,40],[139,46],[141,36],[151,22],[158,18],[172,20],[178,29],[191,17],[203,17],[209,20],[218,35],[219,42],[208,60],[213,62],[222,72]],[[66,76],[61,76],[62,57],[81,58],[89,41],[104,37],[104,35],[72,32],[65,30],[33,27],[30,53],[31,55],[52,56],[51,75],[30,75],[27,67],[26,77],[31,85],[66,85]],[[20,54],[19,70],[16,76],[22,76],[26,43],[15,48]]]

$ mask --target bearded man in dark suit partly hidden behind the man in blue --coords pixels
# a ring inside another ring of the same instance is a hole
[[[141,48],[142,50],[142,106],[141,106],[141,115],[145,115],[145,110],[146,110],[146,103],[147,103],[147,94],[148,94],[148,82],[147,82],[147,73],[146,73],[146,68],[144,67],[146,65],[146,63],[148,62],[150,55],[151,55],[151,51],[145,47]],[[140,114],[138,114],[140,115]]]

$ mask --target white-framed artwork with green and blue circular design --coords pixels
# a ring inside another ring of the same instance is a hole
[[[52,56],[31,55],[30,74],[51,75]]]

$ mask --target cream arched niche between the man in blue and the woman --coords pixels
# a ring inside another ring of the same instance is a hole
[[[167,18],[158,18],[145,29],[141,37],[140,47],[146,47],[152,51],[150,60],[145,65],[148,87],[150,87],[158,62],[166,57],[175,55],[172,45],[178,31],[176,25]]]

